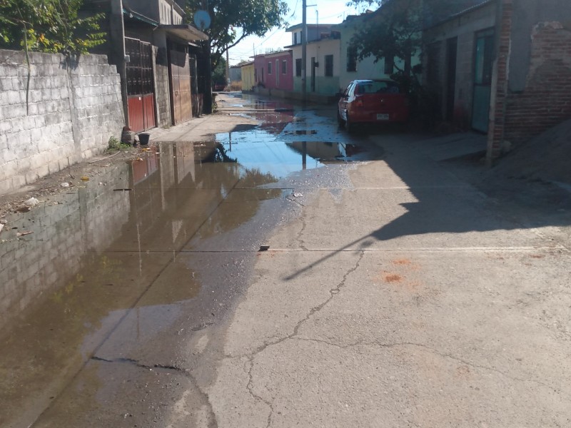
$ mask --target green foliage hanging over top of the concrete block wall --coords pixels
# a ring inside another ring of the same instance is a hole
[[[0,46],[86,54],[105,43],[104,14],[79,16],[83,0],[0,0]]]

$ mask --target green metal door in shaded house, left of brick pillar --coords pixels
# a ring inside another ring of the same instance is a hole
[[[490,116],[493,58],[494,30],[480,31],[476,34],[472,128],[484,133],[487,133]]]

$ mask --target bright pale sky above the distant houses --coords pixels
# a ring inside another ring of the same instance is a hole
[[[307,0],[308,24],[315,24],[319,17],[320,24],[339,24],[345,16],[356,14],[357,9],[346,6],[348,0]],[[285,17],[288,26],[301,24],[302,0],[286,0],[289,11]],[[311,6],[313,5],[313,6]],[[316,13],[317,11],[317,13]],[[280,49],[291,44],[291,33],[285,29],[271,29],[266,36],[248,36],[239,44],[228,51],[228,59],[231,65],[240,61],[250,61],[250,57],[256,54],[264,54],[266,51]]]

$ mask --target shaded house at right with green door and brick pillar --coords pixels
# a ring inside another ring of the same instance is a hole
[[[488,164],[571,117],[571,4],[474,0],[424,30],[442,116],[487,133]]]

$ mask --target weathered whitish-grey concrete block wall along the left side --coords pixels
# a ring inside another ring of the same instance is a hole
[[[121,136],[123,108],[106,56],[0,50],[0,195],[103,152]],[[27,102],[26,102],[27,93]]]

